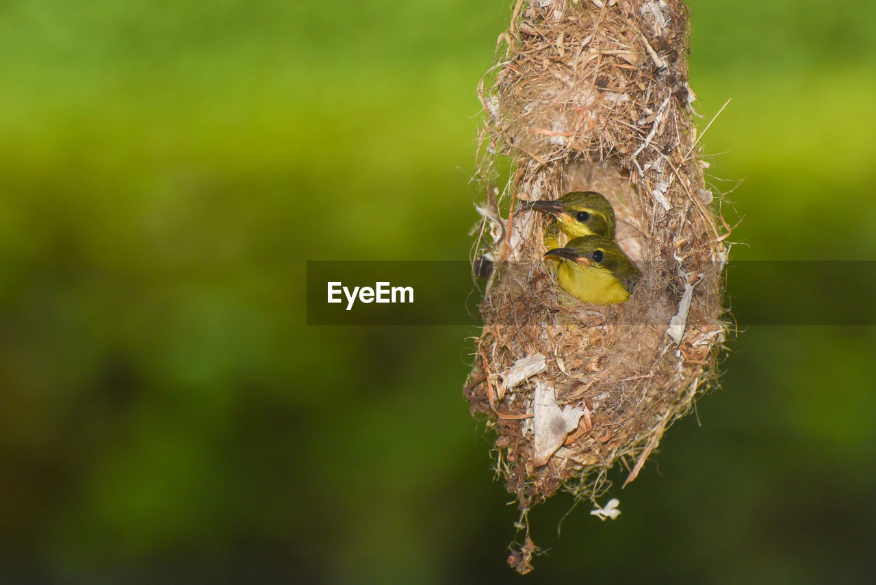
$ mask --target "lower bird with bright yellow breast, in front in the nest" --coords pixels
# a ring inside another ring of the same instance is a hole
[[[636,264],[611,237],[576,237],[565,248],[548,250],[545,257],[559,260],[557,282],[585,303],[622,303],[630,298],[642,277]]]

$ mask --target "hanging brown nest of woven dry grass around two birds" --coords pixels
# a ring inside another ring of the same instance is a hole
[[[464,393],[519,502],[526,540],[509,562],[521,573],[536,550],[529,509],[560,488],[597,504],[618,463],[631,482],[717,377],[729,229],[697,149],[688,43],[678,0],[520,0],[478,88],[475,256],[494,268]],[[542,259],[547,220],[521,210],[586,190],[611,202],[643,272],[623,304],[558,288]]]

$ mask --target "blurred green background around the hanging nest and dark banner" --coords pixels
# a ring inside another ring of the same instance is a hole
[[[510,4],[0,4],[0,582],[526,579],[476,330],[303,308],[307,259],[468,256]],[[690,5],[732,257],[876,258],[872,2]],[[529,581],[864,582],[874,364],[747,328],[617,521],[533,512]]]

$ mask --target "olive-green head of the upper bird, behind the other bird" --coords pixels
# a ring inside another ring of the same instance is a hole
[[[569,237],[614,236],[614,208],[596,191],[573,191],[557,200],[531,201],[526,208],[554,215]]]

